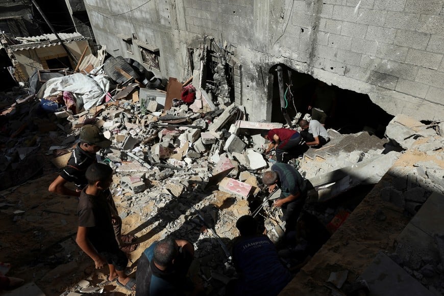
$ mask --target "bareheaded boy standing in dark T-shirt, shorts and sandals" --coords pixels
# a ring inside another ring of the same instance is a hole
[[[112,168],[103,163],[93,163],[87,168],[88,185],[80,193],[76,242],[94,260],[95,268],[100,269],[108,263],[108,280],[134,290],[135,280],[125,274],[128,258],[119,249],[111,222],[107,196],[112,176]]]

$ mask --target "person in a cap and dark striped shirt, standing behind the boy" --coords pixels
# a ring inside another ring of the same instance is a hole
[[[111,141],[105,138],[100,128],[94,125],[83,126],[80,131],[80,142],[72,152],[67,166],[62,169],[62,172],[51,183],[48,190],[58,194],[80,196],[80,192],[88,184],[85,177],[86,169],[97,162],[96,153],[110,145]],[[77,188],[76,191],[66,188],[67,182],[74,183]],[[118,215],[111,193],[108,202],[117,242],[125,253],[133,252],[138,246],[138,244],[133,243],[136,237],[134,235],[121,235],[122,220]]]

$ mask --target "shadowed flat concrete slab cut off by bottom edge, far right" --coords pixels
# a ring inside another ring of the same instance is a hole
[[[367,282],[371,295],[433,295],[384,253],[376,256],[361,278]]]

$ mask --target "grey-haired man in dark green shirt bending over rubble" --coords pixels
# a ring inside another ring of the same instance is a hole
[[[271,170],[264,172],[262,182],[272,192],[276,186],[281,189],[281,195],[273,206],[281,207],[284,214],[285,233],[296,229],[299,214],[307,198],[307,184],[304,178],[289,164],[277,162]]]

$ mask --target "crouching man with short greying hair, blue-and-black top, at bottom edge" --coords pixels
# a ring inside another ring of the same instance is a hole
[[[154,242],[137,261],[136,296],[197,294],[200,287],[186,277],[193,257],[194,247],[186,240]]]

